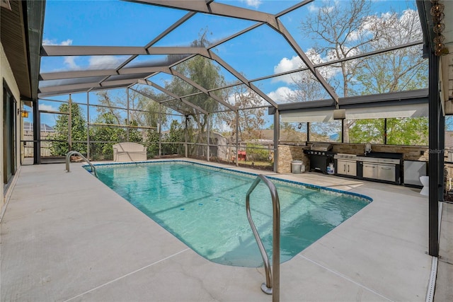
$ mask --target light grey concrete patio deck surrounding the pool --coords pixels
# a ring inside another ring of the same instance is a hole
[[[280,301],[425,301],[432,257],[428,199],[419,190],[319,173],[266,174],[374,199],[282,263]],[[442,228],[451,230],[452,208],[445,211]],[[442,240],[436,291],[443,296],[435,301],[451,297],[451,235]],[[21,167],[0,247],[1,301],[272,300],[260,290],[263,268],[205,260],[78,163],[71,173],[64,164]]]

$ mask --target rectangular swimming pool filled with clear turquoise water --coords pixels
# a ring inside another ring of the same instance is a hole
[[[263,260],[246,217],[256,175],[188,161],[96,165],[98,178],[203,257],[259,267]],[[371,199],[270,178],[280,197],[280,260],[285,262],[365,207]],[[272,202],[260,182],[251,214],[272,257]]]

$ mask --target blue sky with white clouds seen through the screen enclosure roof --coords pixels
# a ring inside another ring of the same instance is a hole
[[[348,4],[348,0],[338,1],[342,5]],[[244,0],[216,2],[267,13],[277,13],[297,4],[299,1]],[[316,9],[323,4],[323,0],[316,0],[281,18],[289,33],[305,52],[309,51],[314,41],[304,39],[299,28],[300,21],[307,14],[316,12]],[[389,12],[391,9],[401,11],[408,6],[416,9],[415,0],[374,0],[372,5],[378,15]],[[185,13],[187,12],[127,1],[47,0],[43,44],[144,46],[178,21]],[[188,46],[190,42],[197,39],[200,31],[205,28],[210,33],[208,38],[211,41],[216,41],[248,28],[252,24],[251,21],[197,14],[183,26],[174,30],[173,33],[157,42],[156,46]],[[261,26],[240,38],[225,42],[216,47],[215,52],[236,70],[245,74],[248,79],[257,79],[261,76],[295,69],[301,64],[297,54],[287,45],[283,37],[268,26]],[[41,62],[41,71],[107,69],[117,66],[120,59],[124,59],[124,57],[44,57]],[[152,59],[161,58],[154,57]],[[149,56],[138,57],[131,63],[131,66],[149,60]],[[226,71],[224,76],[226,80],[234,80],[234,77]],[[153,79],[157,83],[164,80],[164,77]],[[265,86],[263,91],[273,99],[280,98],[290,89],[288,78],[285,77],[273,81],[263,81],[261,84]],[[86,94],[80,97],[86,98]],[[74,95],[74,98],[78,98],[78,96]],[[67,100],[67,96],[52,99]],[[50,105],[42,102],[42,106],[42,108],[45,108]]]

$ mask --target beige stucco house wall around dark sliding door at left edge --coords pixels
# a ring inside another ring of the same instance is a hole
[[[4,88],[4,81],[6,81],[6,84],[8,85],[8,88],[9,90],[11,91],[11,93],[13,93],[13,96],[14,98],[16,99],[17,101],[17,106],[19,108],[19,106],[21,105],[21,93],[19,92],[19,88],[17,86],[17,83],[16,83],[16,79],[14,79],[14,75],[13,75],[13,71],[11,70],[11,66],[9,65],[9,62],[8,62],[8,59],[6,59],[6,54],[4,52],[4,48],[3,48],[3,45],[0,44],[0,56],[1,56],[1,61],[0,61],[0,85],[1,85],[1,89],[0,89],[0,98],[1,98],[1,106],[0,106],[0,117],[1,117],[1,120],[2,122],[0,122],[0,134],[1,134],[1,139],[0,139],[0,153],[1,153],[1,156],[0,156],[0,173],[1,173],[1,182],[3,184],[3,177],[4,177],[4,173],[3,173],[3,169],[4,169],[4,159],[3,159],[3,115],[4,115],[4,112],[3,112],[3,108],[4,108],[4,93],[3,93],[3,88]],[[21,133],[20,131],[20,118],[18,117],[17,120],[16,120],[16,134],[17,134],[17,137],[16,137],[16,161],[17,161],[17,166],[20,165],[20,158],[21,158],[21,155],[20,155],[20,138],[19,138],[19,135]],[[10,187],[11,188],[11,187]],[[4,213],[4,208],[5,208],[5,204],[6,204],[6,199],[8,197],[8,192],[4,192],[4,185],[0,185],[0,217],[1,215],[3,215]]]

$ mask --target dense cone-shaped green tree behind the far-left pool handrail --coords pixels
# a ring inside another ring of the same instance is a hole
[[[59,112],[69,113],[69,104],[64,103],[59,106]],[[58,115],[55,123],[55,134],[50,145],[52,156],[64,156],[69,151],[79,151],[86,154],[86,120],[81,112],[79,105],[71,104],[71,141],[72,146],[69,150],[69,133],[68,133],[69,115]]]

